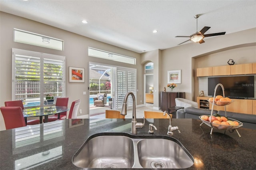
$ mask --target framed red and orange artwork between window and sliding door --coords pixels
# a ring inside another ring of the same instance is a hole
[[[69,82],[84,82],[84,68],[68,67]]]

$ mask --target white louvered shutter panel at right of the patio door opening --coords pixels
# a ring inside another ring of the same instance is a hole
[[[115,89],[116,110],[122,109],[124,96],[128,91],[132,91],[136,99],[136,87],[136,70],[117,68]],[[132,96],[128,97],[127,107],[132,107]]]

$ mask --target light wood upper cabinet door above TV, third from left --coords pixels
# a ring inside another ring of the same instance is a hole
[[[231,65],[231,75],[252,74],[252,63]]]

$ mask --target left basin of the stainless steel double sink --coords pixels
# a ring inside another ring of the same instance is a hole
[[[97,136],[86,140],[73,157],[73,164],[82,168],[132,168],[133,141],[126,136]]]

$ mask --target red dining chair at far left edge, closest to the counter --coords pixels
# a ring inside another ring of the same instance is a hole
[[[21,107],[0,107],[6,129],[25,127],[25,119]]]

